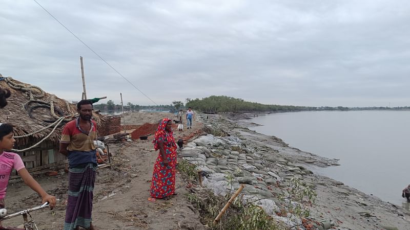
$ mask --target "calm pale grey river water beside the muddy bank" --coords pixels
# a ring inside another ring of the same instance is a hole
[[[403,205],[410,184],[410,111],[309,111],[273,113],[251,120],[259,133],[328,158],[341,166],[316,168],[364,193]]]

